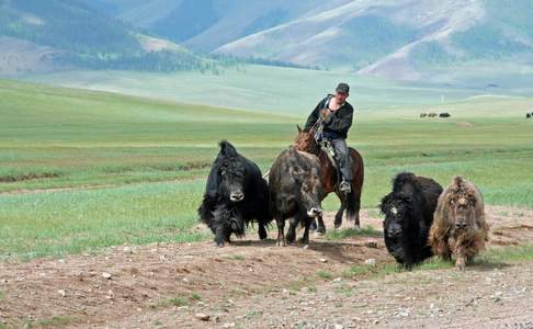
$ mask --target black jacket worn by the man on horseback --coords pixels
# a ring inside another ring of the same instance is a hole
[[[329,94],[327,98],[321,100],[315,110],[313,110],[311,114],[307,118],[307,123],[305,124],[304,131],[309,131],[315,123],[320,117],[320,111],[326,107],[327,102],[332,98],[332,94]],[[350,103],[345,102],[339,110],[329,114],[324,120],[324,135],[327,138],[347,138],[348,131],[352,126],[353,120],[353,107]]]

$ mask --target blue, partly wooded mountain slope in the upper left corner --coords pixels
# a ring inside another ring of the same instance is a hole
[[[102,5],[105,3],[101,3]],[[182,46],[144,35],[73,0],[0,0],[0,73],[68,67],[201,68]]]

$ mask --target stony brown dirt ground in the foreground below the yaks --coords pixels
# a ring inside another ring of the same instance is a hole
[[[487,207],[487,214],[492,246],[531,243],[533,212]],[[381,229],[381,219],[368,212],[362,223]],[[331,216],[327,225],[332,226]],[[326,241],[313,237],[310,249],[304,250],[257,241],[249,231],[246,239],[225,248],[211,242],[121,246],[95,256],[1,263],[0,324],[533,327],[533,263],[478,264],[464,273],[417,270],[377,279],[341,275],[352,265],[367,266],[368,259],[392,262],[382,238]],[[199,319],[197,314],[209,320]]]

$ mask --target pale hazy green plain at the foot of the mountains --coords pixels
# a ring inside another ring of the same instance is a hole
[[[200,72],[147,73],[126,71],[65,71],[27,76],[30,81],[70,88],[91,89],[162,99],[174,102],[209,104],[242,110],[261,110],[305,115],[339,81],[352,87],[351,101],[361,109],[422,105],[461,100],[467,97],[503,93],[524,94],[508,79],[508,88],[487,90],[483,82],[469,87],[392,82],[383,78],[348,72],[316,71],[246,65],[228,68],[222,75]],[[490,81],[490,80],[489,80]]]

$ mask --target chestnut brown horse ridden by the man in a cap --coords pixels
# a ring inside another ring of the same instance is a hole
[[[298,136],[295,139],[294,146],[297,150],[306,151],[315,155],[320,160],[320,179],[322,183],[322,195],[320,195],[320,202],[328,196],[328,194],[334,192],[341,202],[341,206],[334,215],[334,228],[339,228],[342,225],[342,215],[347,211],[347,218],[349,222],[354,222],[355,228],[360,228],[359,212],[361,209],[361,193],[363,191],[364,181],[364,163],[361,155],[350,147],[350,158],[352,162],[352,180],[351,192],[345,194],[339,191],[339,177],[338,170],[331,162],[327,152],[315,140],[313,132],[303,131],[298,126]],[[322,216],[317,216],[318,225],[316,225],[316,234],[324,235],[326,232],[326,226],[324,225]]]

